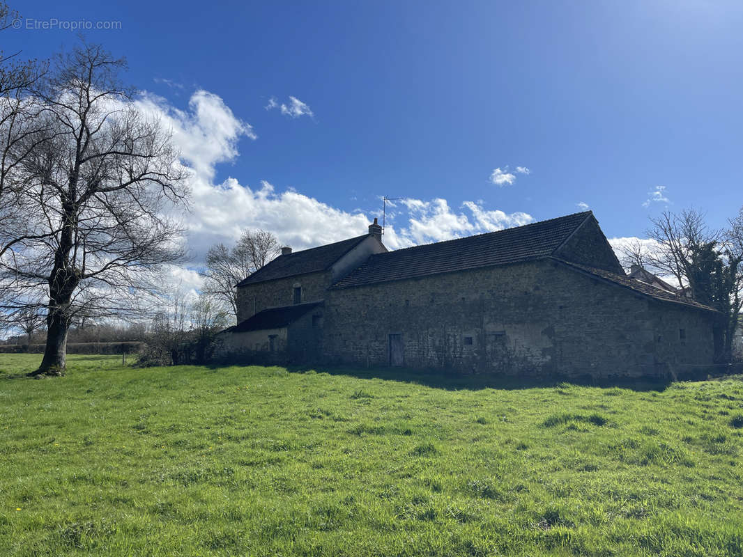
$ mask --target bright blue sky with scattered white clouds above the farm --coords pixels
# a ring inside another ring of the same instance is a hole
[[[126,79],[180,126],[203,169],[200,250],[240,227],[295,247],[360,234],[382,195],[408,200],[393,247],[579,203],[610,238],[690,206],[723,226],[743,204],[739,1],[12,7],[26,22],[3,48],[24,56],[77,42],[32,20],[120,22],[85,36],[126,56]]]

